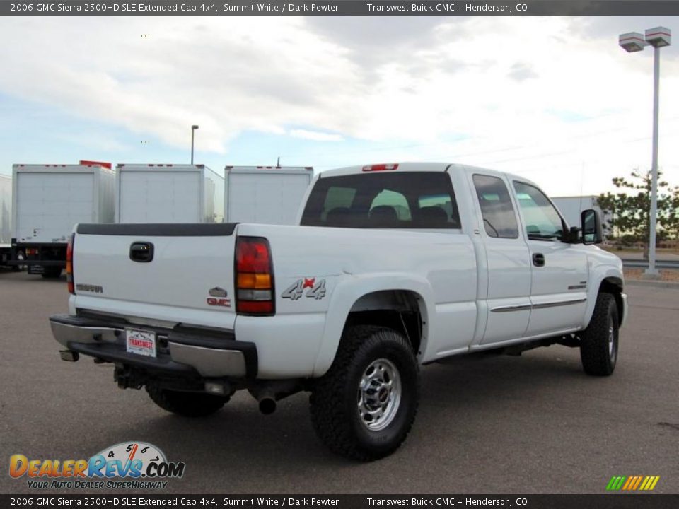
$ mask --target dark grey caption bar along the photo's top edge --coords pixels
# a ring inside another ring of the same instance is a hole
[[[1,16],[671,16],[678,0],[13,1]]]

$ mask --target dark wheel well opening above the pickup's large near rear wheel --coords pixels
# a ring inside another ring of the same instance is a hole
[[[422,344],[422,312],[417,293],[407,290],[385,290],[367,293],[356,300],[349,311],[344,328],[354,325],[378,325],[400,332],[414,353]]]

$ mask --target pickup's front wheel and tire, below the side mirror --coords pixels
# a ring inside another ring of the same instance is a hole
[[[594,376],[613,373],[619,327],[615,297],[610,293],[599,293],[592,319],[580,337],[580,359],[585,373]]]

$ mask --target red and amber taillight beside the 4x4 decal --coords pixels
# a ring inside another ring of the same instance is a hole
[[[236,240],[236,312],[274,314],[274,274],[269,241],[262,237]]]

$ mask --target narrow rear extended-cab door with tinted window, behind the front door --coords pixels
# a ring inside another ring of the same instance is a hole
[[[481,344],[523,337],[530,318],[530,257],[506,182],[472,175],[487,256],[487,320]],[[481,303],[482,304],[482,303]],[[480,305],[480,309],[483,306]]]

